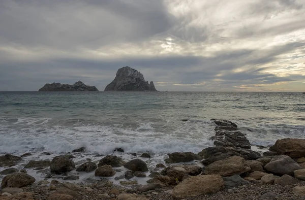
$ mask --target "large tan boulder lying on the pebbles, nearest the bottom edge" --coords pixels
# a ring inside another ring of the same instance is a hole
[[[215,193],[224,185],[219,175],[199,175],[185,179],[173,189],[174,198],[195,197],[201,194]]]

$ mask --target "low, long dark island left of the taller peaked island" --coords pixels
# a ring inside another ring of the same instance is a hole
[[[73,85],[60,84],[60,83],[47,83],[38,91],[99,91],[96,86],[85,85],[83,82],[78,81]]]

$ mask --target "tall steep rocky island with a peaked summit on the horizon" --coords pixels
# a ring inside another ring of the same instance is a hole
[[[144,80],[143,75],[129,66],[118,69],[114,80],[105,91],[157,91],[154,82]]]

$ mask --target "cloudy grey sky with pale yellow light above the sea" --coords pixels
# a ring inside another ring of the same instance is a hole
[[[130,66],[160,91],[305,92],[305,0],[1,0],[0,91]]]

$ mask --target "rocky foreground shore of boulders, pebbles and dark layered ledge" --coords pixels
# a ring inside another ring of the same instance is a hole
[[[212,119],[217,125],[213,147],[192,152],[169,153],[163,163],[150,170],[149,153],[133,154],[131,160],[116,155],[103,156],[99,162],[74,163],[72,154],[52,160],[31,160],[24,169],[13,166],[23,157],[0,156],[2,184],[0,199],[304,199],[305,140],[281,139],[261,154],[238,126],[228,120]],[[116,149],[118,150],[118,149]],[[124,154],[124,149],[120,149]],[[85,148],[74,150],[82,154]],[[44,152],[43,154],[47,154]],[[145,159],[144,159],[145,158]],[[146,162],[144,161],[146,160]],[[116,177],[125,168],[123,177]],[[46,173],[45,180],[27,174],[28,169]],[[100,179],[73,183],[79,176],[94,173]],[[59,177],[62,181],[59,181]],[[113,184],[107,177],[115,177]],[[149,178],[147,184],[137,180]]]

